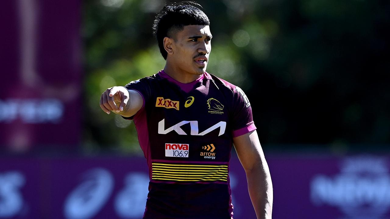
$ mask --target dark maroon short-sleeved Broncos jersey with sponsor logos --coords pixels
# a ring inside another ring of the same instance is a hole
[[[144,219],[232,218],[232,138],[256,129],[244,92],[208,73],[183,84],[164,71],[126,88],[144,100],[128,118],[149,165]]]

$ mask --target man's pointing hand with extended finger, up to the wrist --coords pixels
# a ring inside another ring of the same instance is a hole
[[[100,108],[107,114],[110,114],[110,111],[119,113],[126,107],[129,97],[129,91],[125,87],[107,88],[100,96]]]

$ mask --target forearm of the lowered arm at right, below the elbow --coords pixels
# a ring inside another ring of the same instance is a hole
[[[265,159],[260,165],[256,165],[251,170],[246,170],[246,180],[248,181],[249,196],[255,208],[257,219],[271,219],[273,189],[271,175]]]

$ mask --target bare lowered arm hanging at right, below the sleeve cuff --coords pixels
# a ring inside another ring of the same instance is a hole
[[[271,219],[273,191],[271,175],[256,130],[233,138],[245,170],[248,191],[257,219]]]

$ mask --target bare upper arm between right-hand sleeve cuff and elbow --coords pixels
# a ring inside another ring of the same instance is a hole
[[[256,130],[233,138],[233,144],[245,171],[252,170],[264,158]]]

